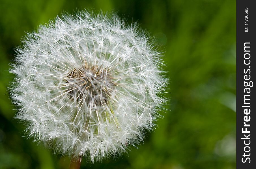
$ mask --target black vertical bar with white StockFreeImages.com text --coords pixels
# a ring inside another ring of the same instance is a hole
[[[236,168],[256,168],[256,6],[236,1]],[[255,83],[255,84],[254,84]]]

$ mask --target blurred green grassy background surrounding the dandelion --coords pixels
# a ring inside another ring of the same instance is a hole
[[[164,51],[169,111],[138,149],[81,168],[236,167],[236,1],[0,0],[0,168],[68,168],[69,158],[27,140],[14,119],[8,73],[21,38],[62,12],[114,11],[138,21]]]

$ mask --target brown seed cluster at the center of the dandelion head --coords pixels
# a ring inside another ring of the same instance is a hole
[[[69,95],[80,104],[106,105],[115,86],[107,69],[98,66],[74,68],[67,77]]]

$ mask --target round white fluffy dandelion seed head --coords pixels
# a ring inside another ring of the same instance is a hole
[[[142,141],[165,103],[160,52],[113,14],[63,15],[17,49],[11,97],[29,137],[72,159],[116,156]]]

